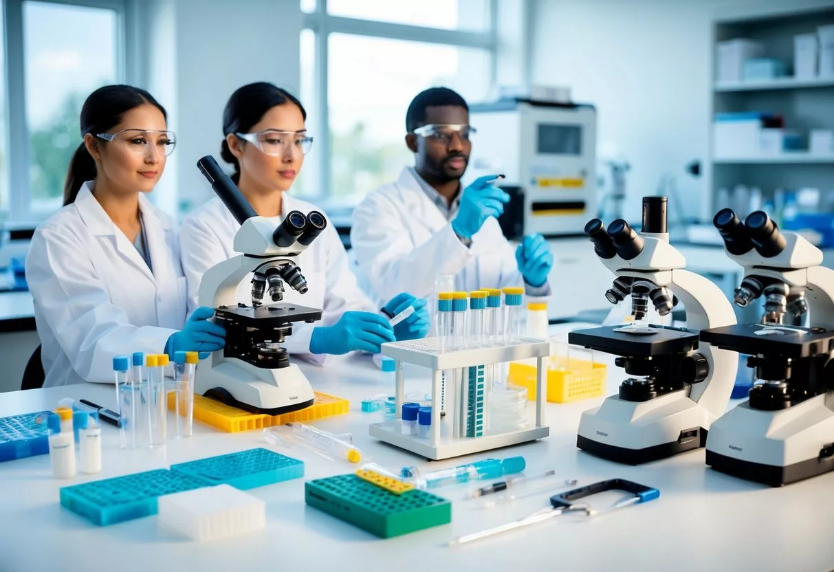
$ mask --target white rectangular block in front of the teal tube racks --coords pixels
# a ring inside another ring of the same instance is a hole
[[[159,526],[194,540],[245,534],[266,526],[264,501],[229,484],[159,497]]]

